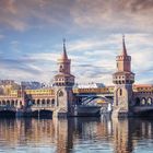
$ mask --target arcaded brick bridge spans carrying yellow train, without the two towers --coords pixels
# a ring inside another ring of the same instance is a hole
[[[133,111],[144,113],[153,110],[153,87],[151,86],[133,86]],[[86,97],[102,97],[102,103],[108,103],[114,98],[114,86],[105,86],[101,89],[74,89],[75,104],[82,102]],[[106,98],[105,98],[106,97]],[[94,99],[94,98],[93,98]],[[91,101],[92,103],[92,101]],[[57,109],[55,104],[55,93],[52,89],[47,90],[25,90],[22,94],[16,91],[16,95],[0,96],[0,111],[40,111]]]

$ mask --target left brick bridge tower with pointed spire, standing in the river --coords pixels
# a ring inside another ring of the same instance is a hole
[[[63,39],[63,51],[58,59],[58,74],[55,75],[55,105],[54,116],[67,117],[73,114],[73,93],[74,75],[71,74],[71,60],[68,58],[66,50],[66,39]]]

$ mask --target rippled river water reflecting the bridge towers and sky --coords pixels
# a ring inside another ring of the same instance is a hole
[[[4,153],[153,153],[153,119],[0,119]]]

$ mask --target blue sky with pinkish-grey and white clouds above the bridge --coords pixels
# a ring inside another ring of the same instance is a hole
[[[52,81],[62,39],[75,82],[111,83],[126,35],[136,83],[153,84],[153,0],[0,0],[0,79]]]

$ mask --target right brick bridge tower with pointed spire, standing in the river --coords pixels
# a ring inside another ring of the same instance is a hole
[[[122,52],[116,58],[117,71],[113,74],[114,91],[114,117],[130,116],[132,105],[132,84],[134,73],[131,72],[131,56],[128,56],[125,36],[122,36]]]

